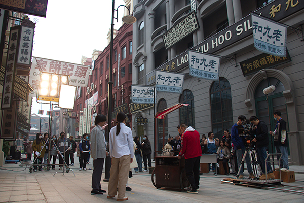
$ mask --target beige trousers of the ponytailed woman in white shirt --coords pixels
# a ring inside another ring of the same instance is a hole
[[[112,165],[110,169],[110,179],[108,185],[108,195],[115,196],[118,183],[117,198],[124,198],[126,194],[126,184],[129,177],[131,155],[122,156],[120,158],[112,157]]]

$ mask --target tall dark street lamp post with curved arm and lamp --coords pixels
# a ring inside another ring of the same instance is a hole
[[[112,1],[112,18],[111,18],[111,38],[110,38],[110,67],[109,67],[109,82],[108,82],[108,133],[107,133],[107,142],[109,143],[109,134],[111,130],[112,125],[112,70],[113,70],[113,36],[114,36],[114,19],[116,19],[116,22],[118,22],[118,8],[125,5],[120,5],[117,7],[117,9],[114,9],[115,6],[115,0]],[[126,15],[122,18],[122,21],[126,24],[133,24],[136,22],[136,18],[134,16],[130,15],[130,9],[126,7],[129,11],[129,15]],[[114,13],[117,13],[116,17],[114,16]],[[119,68],[119,67],[118,67]],[[109,146],[107,146],[107,149],[109,149]],[[111,159],[110,156],[106,157],[105,160],[105,175],[103,181],[108,182],[110,178],[110,164]]]

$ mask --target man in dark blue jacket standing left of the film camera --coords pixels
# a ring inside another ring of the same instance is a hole
[[[244,139],[244,137],[239,136],[238,129],[240,129],[240,128],[244,129],[244,127],[242,126],[242,123],[245,123],[245,121],[246,121],[245,116],[239,116],[238,117],[238,122],[236,124],[234,124],[231,128],[231,140],[232,140],[232,143],[233,143],[233,146],[234,146],[234,149],[235,149],[235,153],[237,155],[238,168],[240,168],[243,155],[246,151],[246,148],[245,148],[245,145],[244,145],[245,139]],[[246,160],[247,170],[248,170],[248,173],[249,173],[249,178],[255,178],[254,174],[252,173],[252,167],[251,167],[251,162],[250,162],[250,158],[249,158],[249,153],[246,154],[245,160]],[[239,178],[243,178],[243,177],[244,177],[244,165],[241,168]]]

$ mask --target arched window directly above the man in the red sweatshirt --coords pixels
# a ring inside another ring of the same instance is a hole
[[[194,120],[194,97],[190,90],[186,89],[182,92],[179,103],[188,104],[189,106],[184,106],[179,109],[179,119],[180,123],[185,123],[188,126],[195,128]]]

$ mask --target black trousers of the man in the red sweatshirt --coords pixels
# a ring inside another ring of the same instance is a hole
[[[186,176],[193,189],[198,189],[200,185],[200,160],[200,156],[185,159]]]

